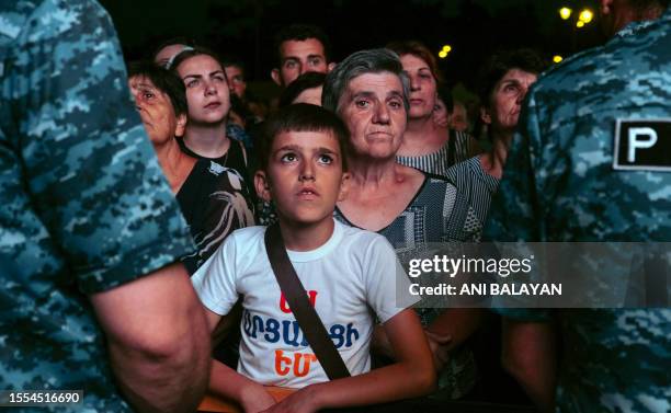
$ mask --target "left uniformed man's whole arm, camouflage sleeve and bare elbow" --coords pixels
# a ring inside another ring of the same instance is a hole
[[[170,265],[193,243],[130,101],[114,27],[93,1],[38,9],[58,18],[36,15],[20,34],[31,47],[15,50],[19,78],[2,83],[13,96],[2,114],[21,114],[23,186],[49,231],[39,237],[71,271],[58,282],[90,297],[136,410],[193,410],[209,337],[185,269]]]

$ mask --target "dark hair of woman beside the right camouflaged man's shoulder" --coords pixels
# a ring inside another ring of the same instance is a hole
[[[521,48],[500,50],[491,56],[482,70],[478,81],[478,96],[480,105],[489,105],[489,97],[497,82],[511,69],[520,69],[530,73],[539,74],[547,68],[547,62],[533,49]]]

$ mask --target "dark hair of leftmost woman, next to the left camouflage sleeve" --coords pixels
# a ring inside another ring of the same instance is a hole
[[[177,74],[157,66],[153,61],[132,61],[128,64],[128,79],[141,76],[151,80],[151,83],[170,97],[175,116],[187,115],[186,88]]]

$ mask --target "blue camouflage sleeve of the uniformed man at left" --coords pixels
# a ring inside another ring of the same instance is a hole
[[[25,22],[2,83],[25,191],[91,294],[166,266],[193,243],[132,103],[109,15],[93,1],[65,3],[44,2]]]

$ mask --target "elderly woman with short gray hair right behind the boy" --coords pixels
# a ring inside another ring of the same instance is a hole
[[[465,222],[474,217],[457,190],[444,177],[396,162],[408,122],[409,81],[398,55],[388,49],[350,55],[328,76],[322,106],[350,129],[349,191],[338,203],[337,219],[376,231],[394,245],[401,262],[431,242],[471,241]],[[479,229],[473,228],[473,231]],[[442,394],[457,398],[474,385],[474,362],[459,344],[478,325],[463,310],[418,309],[441,374]],[[393,357],[386,337],[375,348]],[[447,356],[450,352],[450,356]],[[444,369],[443,369],[444,367]]]

